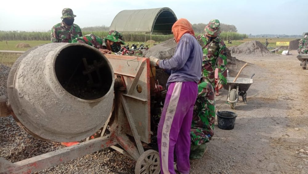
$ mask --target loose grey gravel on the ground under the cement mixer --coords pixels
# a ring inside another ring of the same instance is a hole
[[[0,95],[6,95],[10,67],[0,64]],[[34,138],[12,116],[0,117],[0,157],[17,162],[64,148],[60,143]],[[133,173],[136,162],[111,148],[79,157],[37,173]]]

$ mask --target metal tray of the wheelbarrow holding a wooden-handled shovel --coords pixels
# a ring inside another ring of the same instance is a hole
[[[224,89],[229,90],[229,85],[231,85],[231,89],[236,89],[238,85],[238,91],[247,91],[253,83],[253,79],[249,78],[237,78],[236,82],[233,80],[234,77],[227,77],[227,84],[223,85]]]

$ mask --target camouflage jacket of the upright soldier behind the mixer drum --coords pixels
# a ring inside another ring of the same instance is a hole
[[[81,29],[77,24],[73,24],[70,28],[67,28],[60,22],[51,29],[51,42],[67,42],[71,43],[73,39],[82,36]]]

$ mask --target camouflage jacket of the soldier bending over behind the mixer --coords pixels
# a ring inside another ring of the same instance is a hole
[[[87,34],[85,36],[75,38],[72,40],[72,43],[84,43],[97,49],[107,48],[105,39],[102,39],[95,34]]]

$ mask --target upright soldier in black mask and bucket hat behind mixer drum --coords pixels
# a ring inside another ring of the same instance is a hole
[[[56,24],[51,29],[51,42],[67,42],[77,37],[82,36],[81,29],[77,24],[74,24],[74,18],[76,15],[73,14],[73,10],[65,8],[62,10],[62,22]]]

